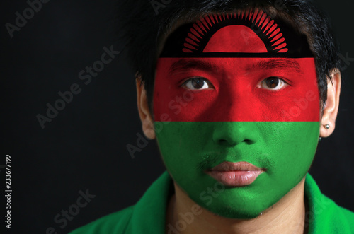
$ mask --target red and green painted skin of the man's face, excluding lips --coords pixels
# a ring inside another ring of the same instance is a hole
[[[307,106],[291,118],[319,119],[314,59],[296,59],[300,71],[295,72],[292,68],[253,66],[273,59],[207,58],[203,60],[213,67],[209,72],[204,66],[188,66],[187,71],[178,69],[171,74],[169,67],[175,60],[159,59],[154,90],[155,117],[163,113],[171,119],[156,131],[167,170],[190,199],[212,213],[256,218],[295,187],[312,163],[319,121],[284,122],[282,111],[290,113],[297,106],[295,100],[306,100],[311,92]],[[190,85],[179,85],[195,76],[207,78],[212,88],[193,90]],[[264,81],[273,76],[281,76],[289,85],[268,88]],[[180,101],[181,109],[171,108],[171,100],[183,97],[185,90],[193,93],[193,99]],[[246,161],[265,172],[251,185],[223,187],[205,170],[224,161]]]

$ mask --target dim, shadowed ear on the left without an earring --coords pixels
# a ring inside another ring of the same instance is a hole
[[[142,120],[142,131],[147,138],[155,139],[154,122],[149,110],[147,93],[139,77],[135,78],[135,83],[137,85],[137,110],[140,120]]]

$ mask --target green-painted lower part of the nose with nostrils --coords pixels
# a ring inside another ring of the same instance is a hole
[[[256,123],[215,122],[212,140],[219,145],[236,146],[256,143]]]

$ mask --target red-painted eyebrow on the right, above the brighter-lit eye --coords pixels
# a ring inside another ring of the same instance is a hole
[[[297,73],[302,73],[300,65],[293,59],[272,59],[272,60],[263,60],[252,64],[247,68],[252,71],[255,69],[258,70],[268,70],[268,69],[291,69]]]

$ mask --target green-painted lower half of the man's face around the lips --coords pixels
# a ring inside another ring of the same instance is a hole
[[[306,175],[319,126],[319,122],[155,122],[155,131],[167,170],[190,198],[221,216],[251,218]],[[205,192],[216,186],[216,180],[203,171],[222,161],[247,161],[267,171],[251,185],[229,187],[208,197]]]

